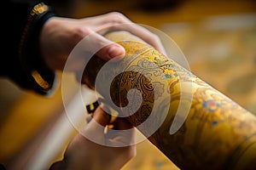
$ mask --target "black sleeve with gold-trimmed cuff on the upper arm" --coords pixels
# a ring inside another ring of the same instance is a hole
[[[41,59],[38,38],[45,21],[55,14],[49,6],[35,0],[5,0],[2,7],[6,10],[2,9],[0,15],[3,22],[0,76],[9,78],[20,88],[49,94],[55,71]]]

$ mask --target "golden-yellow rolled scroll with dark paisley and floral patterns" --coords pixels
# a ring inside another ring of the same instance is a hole
[[[106,37],[125,59],[92,58],[87,84],[181,169],[256,169],[256,117],[140,38],[125,31]],[[113,75],[116,75],[113,77]],[[109,77],[113,77],[110,85]],[[131,90],[137,89],[137,90]],[[129,92],[130,91],[130,92]],[[140,95],[137,95],[137,92]],[[110,94],[110,97],[108,97]],[[172,133],[174,120],[177,132]]]

